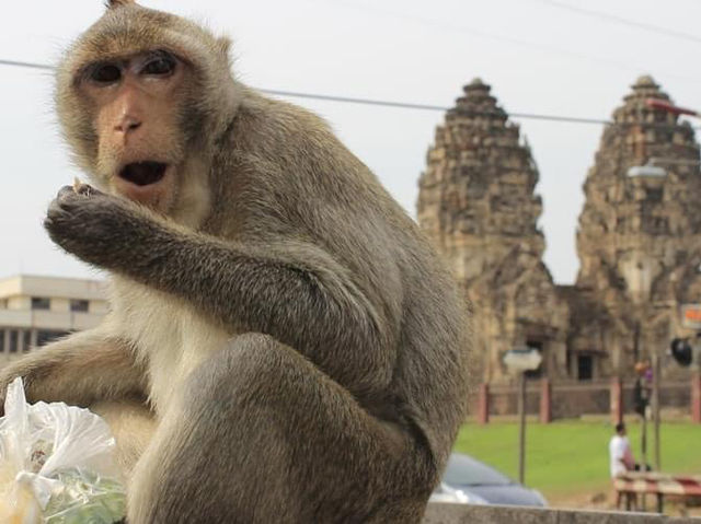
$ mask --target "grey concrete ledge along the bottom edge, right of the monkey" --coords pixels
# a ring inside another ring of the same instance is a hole
[[[550,510],[506,505],[428,504],[423,524],[701,524],[652,513]]]

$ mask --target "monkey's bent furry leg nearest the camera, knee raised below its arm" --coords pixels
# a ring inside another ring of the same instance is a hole
[[[134,471],[129,524],[420,521],[428,453],[290,348],[238,337],[181,392]]]

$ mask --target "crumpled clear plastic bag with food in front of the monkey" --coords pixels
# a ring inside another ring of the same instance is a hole
[[[0,522],[111,524],[126,513],[106,422],[64,403],[26,404],[22,379],[0,418]]]

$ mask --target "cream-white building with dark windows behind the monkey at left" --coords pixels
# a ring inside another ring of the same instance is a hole
[[[0,366],[32,348],[96,326],[107,312],[105,295],[99,280],[0,279]]]

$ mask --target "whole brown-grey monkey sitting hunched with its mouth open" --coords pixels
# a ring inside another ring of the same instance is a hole
[[[415,222],[230,42],[112,0],[57,69],[90,185],[44,226],[110,275],[101,325],[28,353],[31,401],[100,406],[145,523],[416,523],[466,415],[469,318]]]

